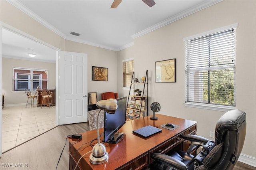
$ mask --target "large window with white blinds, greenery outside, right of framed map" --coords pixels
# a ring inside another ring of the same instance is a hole
[[[235,28],[186,41],[186,103],[235,106]]]

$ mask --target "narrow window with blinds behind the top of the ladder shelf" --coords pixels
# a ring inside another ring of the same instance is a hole
[[[134,59],[123,61],[123,87],[130,87],[133,71]]]

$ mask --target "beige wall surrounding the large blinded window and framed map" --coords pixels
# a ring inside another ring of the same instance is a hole
[[[220,111],[185,107],[185,43],[183,38],[238,23],[236,30],[236,108],[247,113],[242,154],[256,166],[256,1],[223,1],[135,39],[118,51],[118,63],[134,57],[135,77],[149,71],[149,104],[157,101],[160,114],[198,121],[198,135],[210,138]],[[176,58],[176,83],[155,83],[155,61]],[[122,67],[118,65],[118,72]],[[121,79],[118,74],[118,79]],[[118,85],[118,92],[128,95]],[[121,91],[122,92],[121,92]],[[149,111],[152,115],[152,111]]]

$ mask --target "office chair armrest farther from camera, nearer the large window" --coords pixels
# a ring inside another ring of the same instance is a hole
[[[191,154],[192,150],[194,148],[196,148],[196,146],[198,144],[205,145],[209,141],[209,139],[207,139],[207,138],[204,138],[202,136],[197,136],[197,135],[194,135],[194,134],[183,134],[180,137],[185,139],[185,140],[190,140],[191,141],[191,144],[188,147],[188,150],[186,151],[188,154]]]

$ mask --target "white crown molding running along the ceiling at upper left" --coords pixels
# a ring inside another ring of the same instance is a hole
[[[31,18],[33,18],[34,20],[36,20],[37,22],[39,22],[40,24],[42,24],[43,26],[46,26],[46,28],[49,28],[50,30],[52,30],[54,33],[58,34],[62,38],[64,39],[66,38],[65,34],[63,34],[57,28],[55,28],[54,26],[52,26],[51,24],[43,20],[40,16],[36,15],[34,12],[29,10],[26,6],[22,5],[17,0],[6,0],[6,1],[12,4],[13,6],[15,6],[16,8],[18,8],[19,10],[21,10],[22,12],[24,12],[25,14],[27,14],[28,16],[30,16]]]

